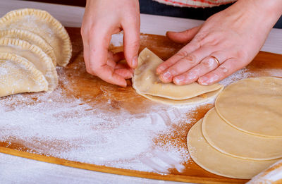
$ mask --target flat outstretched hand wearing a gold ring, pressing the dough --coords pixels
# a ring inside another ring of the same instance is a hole
[[[281,13],[281,0],[239,0],[199,27],[167,32],[174,42],[189,43],[158,66],[160,80],[176,85],[219,82],[252,61]]]

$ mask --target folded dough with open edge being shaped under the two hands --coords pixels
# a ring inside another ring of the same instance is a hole
[[[156,68],[162,61],[156,54],[145,48],[138,57],[138,67],[133,77],[136,92],[147,99],[164,104],[193,104],[207,102],[216,97],[223,85],[175,85],[163,83],[156,74]]]

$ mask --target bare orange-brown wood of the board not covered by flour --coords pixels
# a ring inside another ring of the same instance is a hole
[[[63,90],[67,97],[75,97],[84,99],[90,106],[93,103],[105,103],[109,99],[111,104],[111,111],[118,111],[118,109],[126,109],[130,114],[139,114],[141,111],[147,111],[149,107],[155,106],[156,103],[150,102],[144,97],[140,97],[135,93],[133,87],[131,87],[131,82],[128,80],[128,87],[118,87],[114,85],[109,85],[106,82],[100,80],[97,77],[91,76],[86,73],[85,66],[83,64],[83,47],[82,39],[80,36],[80,29],[68,27],[68,33],[71,37],[73,43],[73,57],[71,63],[66,68],[61,68],[59,75],[67,76],[66,80],[69,80],[69,85],[59,84],[59,88]],[[140,51],[148,47],[155,54],[161,57],[161,59],[166,60],[170,56],[176,53],[183,45],[175,44],[168,40],[166,37],[158,35],[143,35],[141,39]],[[114,47],[111,45],[111,49],[114,51],[121,51],[121,47]],[[254,61],[247,66],[247,71],[249,75],[238,75],[240,78],[245,77],[255,77],[264,75],[275,75],[282,77],[282,56],[279,54],[271,54],[266,52],[259,52],[255,57]],[[107,95],[103,93],[103,89],[106,89]],[[25,97],[29,99],[29,102],[17,102],[19,104],[32,104],[37,103],[37,97],[32,96],[32,94],[25,94]],[[87,99],[94,99],[95,102],[87,101]],[[99,98],[94,98],[99,97]],[[0,99],[0,103],[4,102],[6,97]],[[51,99],[56,100],[56,99]],[[15,104],[14,104],[15,105]],[[213,107],[213,104],[206,104],[194,109],[195,113],[192,115],[192,123],[185,124],[181,123],[179,125],[173,126],[173,136],[171,135],[159,135],[157,142],[167,142],[177,140],[178,147],[186,146],[186,135],[188,130],[196,123],[204,114]],[[17,106],[13,104],[7,104],[6,108],[9,111],[13,111]],[[26,107],[28,108],[28,106]],[[5,114],[0,114],[0,116],[5,116]],[[191,118],[191,117],[190,117]],[[1,119],[0,119],[1,121]],[[185,119],[183,120],[185,121]],[[0,126],[1,128],[1,126]],[[1,133],[1,130],[0,130]],[[47,145],[50,146],[51,145]],[[56,157],[49,157],[45,154],[39,154],[37,152],[30,153],[29,147],[25,145],[25,140],[15,140],[13,137],[4,142],[0,142],[0,152],[5,154],[12,154],[18,157],[25,157],[28,159],[35,159],[39,161],[46,161],[53,164],[61,164],[64,166],[71,166],[75,168],[84,168],[92,171],[101,171],[106,173],[115,173],[125,176],[136,176],[142,178],[153,178],[158,180],[173,180],[173,181],[183,181],[191,183],[245,183],[247,180],[238,180],[232,178],[225,178],[221,176],[216,176],[197,166],[193,161],[187,161],[184,163],[185,169],[183,172],[179,173],[175,169],[169,170],[168,174],[160,174],[157,172],[145,172],[145,171],[133,171],[124,168],[114,168],[106,166],[97,166],[94,164],[87,164],[78,161],[68,161],[66,159],[59,159]]]

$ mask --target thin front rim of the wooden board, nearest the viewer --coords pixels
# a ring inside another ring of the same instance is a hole
[[[118,174],[123,176],[133,176],[139,178],[148,178],[154,180],[169,180],[178,182],[189,182],[189,183],[210,183],[210,184],[221,184],[221,183],[245,183],[247,180],[230,180],[230,178],[203,178],[197,176],[182,176],[182,175],[161,175],[158,173],[150,173],[145,171],[133,171],[125,168],[114,168],[108,166],[98,166],[94,164],[82,163],[79,161],[68,161],[66,159],[59,159],[56,157],[48,157],[40,154],[33,154],[28,152],[19,151],[16,149],[10,149],[6,147],[0,147],[0,152],[4,154],[11,154],[16,157],[23,157],[25,159],[33,159],[37,161],[44,161],[50,164],[59,164],[62,166],[69,166],[73,168],[86,169],[90,171],[98,171],[102,173]]]

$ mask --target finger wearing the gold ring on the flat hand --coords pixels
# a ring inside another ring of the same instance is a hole
[[[198,78],[219,66],[214,57],[207,56],[197,66],[187,72],[173,78],[176,85],[188,85],[198,80]]]

